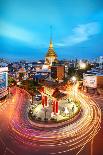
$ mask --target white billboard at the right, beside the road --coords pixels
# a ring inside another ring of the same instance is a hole
[[[97,87],[97,77],[96,76],[84,76],[83,86],[96,88]]]

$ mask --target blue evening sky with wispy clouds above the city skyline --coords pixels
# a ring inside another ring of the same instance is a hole
[[[50,25],[59,59],[103,55],[103,0],[0,0],[0,57],[44,58]]]

